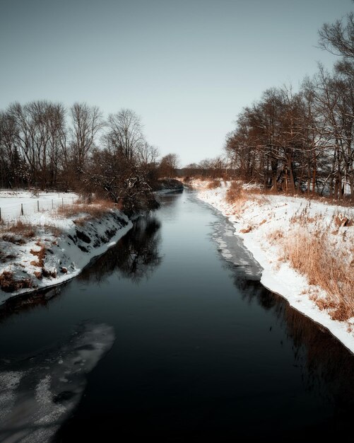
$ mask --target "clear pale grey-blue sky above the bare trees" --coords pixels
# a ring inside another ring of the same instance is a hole
[[[317,31],[351,0],[0,0],[0,108],[131,108],[182,165],[221,154],[237,113],[335,57]]]

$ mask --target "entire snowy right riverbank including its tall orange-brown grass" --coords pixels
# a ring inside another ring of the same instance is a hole
[[[302,197],[262,195],[247,187],[235,190],[232,198],[232,191],[228,194],[230,184],[225,183],[211,185],[194,180],[191,185],[201,200],[232,222],[235,235],[242,238],[244,246],[264,269],[261,283],[287,299],[297,311],[328,328],[354,352],[353,292],[350,292],[354,227],[344,226],[345,219],[353,220],[353,209]],[[314,263],[317,268],[321,266],[319,275],[310,273],[311,262],[324,260],[315,255],[314,242],[327,254],[326,263]],[[295,253],[297,258],[293,256]],[[308,269],[302,270],[301,265]],[[333,292],[326,290],[325,282],[333,285]]]

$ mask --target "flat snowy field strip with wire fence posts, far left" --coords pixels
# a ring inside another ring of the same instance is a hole
[[[20,217],[30,216],[36,212],[52,212],[58,207],[71,206],[76,202],[75,197],[33,199],[30,202],[28,199],[23,200],[25,201],[10,204],[6,202],[2,206],[0,203],[0,222],[16,222]]]

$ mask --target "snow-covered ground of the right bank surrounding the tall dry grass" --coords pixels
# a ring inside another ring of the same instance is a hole
[[[294,220],[300,214],[306,214],[307,220],[312,221],[308,226],[309,232],[314,226],[317,229],[321,226],[329,229],[329,241],[336,245],[338,252],[341,248],[348,249],[347,261],[343,266],[353,266],[354,226],[333,226],[331,230],[334,217],[343,212],[353,219],[353,209],[309,201],[302,197],[253,194],[249,195],[249,200],[235,206],[225,200],[228,184],[222,182],[219,188],[207,189],[206,183],[194,180],[191,185],[201,200],[230,219],[235,227],[235,235],[243,239],[244,246],[264,268],[261,283],[288,299],[295,309],[328,328],[343,345],[354,352],[354,318],[347,321],[332,320],[328,311],[319,309],[312,296],[317,294],[317,297],[325,297],[326,294],[321,288],[309,284],[307,277],[300,275],[283,260],[281,246],[277,241],[272,241],[276,236],[271,235],[277,232],[295,234],[302,227],[297,226]],[[354,297],[354,294],[348,295]]]

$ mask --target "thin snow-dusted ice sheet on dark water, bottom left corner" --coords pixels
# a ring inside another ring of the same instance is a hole
[[[2,359],[1,441],[52,441],[81,400],[87,375],[114,340],[112,326],[86,322],[52,349],[30,358]]]

